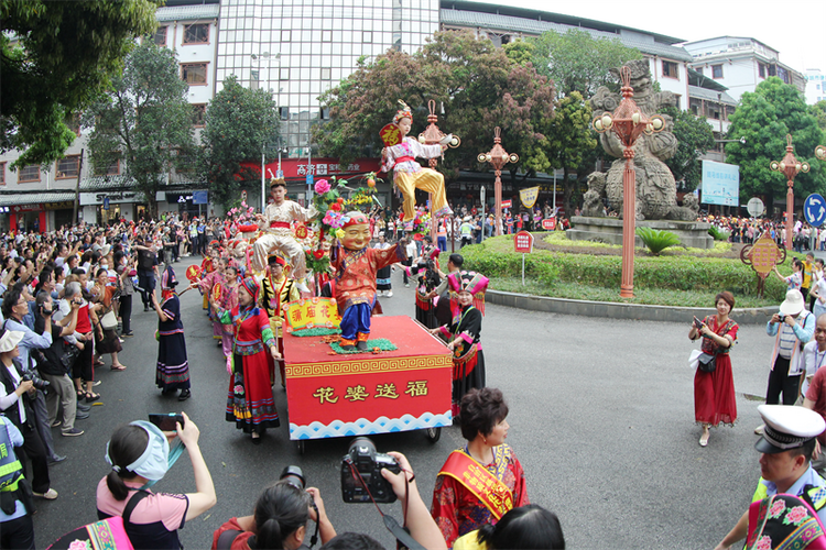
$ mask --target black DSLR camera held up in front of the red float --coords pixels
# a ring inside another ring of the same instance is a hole
[[[341,459],[341,497],[346,503],[394,503],[395,493],[390,483],[381,476],[381,470],[393,473],[402,471],[399,462],[382,452],[369,438],[360,437],[350,442],[350,449]],[[363,482],[363,483],[362,483]]]

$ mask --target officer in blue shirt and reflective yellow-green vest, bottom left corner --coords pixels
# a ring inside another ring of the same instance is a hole
[[[0,548],[9,550],[34,550],[32,488],[13,450],[22,446],[23,435],[0,415]]]

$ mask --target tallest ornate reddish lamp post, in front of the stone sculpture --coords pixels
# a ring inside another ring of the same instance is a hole
[[[620,296],[633,298],[634,288],[634,238],[637,229],[637,174],[634,173],[634,145],[640,134],[652,134],[665,128],[659,116],[648,117],[632,99],[631,69],[620,69],[622,99],[613,113],[605,112],[591,121],[598,133],[612,131],[623,145],[626,170],[622,173],[622,282]]]

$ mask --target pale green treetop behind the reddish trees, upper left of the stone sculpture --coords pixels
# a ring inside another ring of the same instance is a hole
[[[588,31],[569,29],[564,34],[545,31],[525,40],[528,56],[536,70],[552,79],[559,96],[578,91],[590,98],[600,86],[617,88],[609,69],[626,62],[641,59],[639,50],[623,45],[619,38],[595,38]]]

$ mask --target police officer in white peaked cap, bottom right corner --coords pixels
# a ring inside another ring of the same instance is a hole
[[[806,501],[826,521],[826,480],[812,468],[811,459],[817,436],[826,429],[823,417],[804,407],[760,405],[758,413],[765,428],[754,444],[760,454],[761,477],[751,502],[785,493]],[[749,510],[724,537],[715,550],[728,550],[756,526],[749,525]]]

